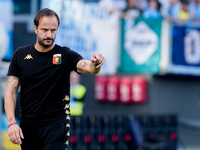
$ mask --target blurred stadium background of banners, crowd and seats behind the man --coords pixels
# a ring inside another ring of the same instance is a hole
[[[1,149],[19,149],[7,137],[7,69],[36,42],[46,7],[61,19],[57,44],[106,59],[99,75],[80,75],[69,149],[200,149],[200,0],[0,0]]]

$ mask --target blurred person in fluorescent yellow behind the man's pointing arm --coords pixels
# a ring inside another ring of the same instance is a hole
[[[86,87],[80,84],[80,75],[76,72],[70,74],[70,114],[80,116],[83,114]]]

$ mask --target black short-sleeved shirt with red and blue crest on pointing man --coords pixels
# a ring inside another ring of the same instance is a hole
[[[48,52],[39,52],[34,45],[15,51],[7,75],[20,80],[22,125],[42,126],[66,120],[69,77],[71,71],[77,71],[81,59],[75,51],[59,45]]]

